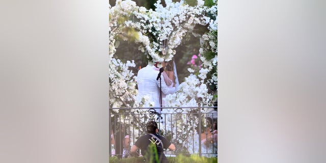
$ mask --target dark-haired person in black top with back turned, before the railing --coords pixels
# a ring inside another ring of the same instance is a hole
[[[147,162],[149,160],[154,160],[153,155],[150,154],[149,146],[153,145],[154,148],[157,150],[158,159],[160,163],[168,163],[168,159],[164,154],[164,149],[175,150],[174,144],[169,142],[166,138],[162,137],[161,135],[157,134],[158,127],[155,121],[149,121],[146,123],[146,130],[148,134],[143,135],[140,137],[135,144],[131,147],[130,152],[134,153],[137,149],[141,149],[141,153],[145,156]],[[156,162],[156,163],[158,163]],[[152,162],[151,162],[152,163]]]

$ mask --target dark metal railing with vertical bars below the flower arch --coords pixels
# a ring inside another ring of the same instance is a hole
[[[217,142],[212,139],[212,132],[217,129],[217,107],[160,108],[162,111],[159,115],[154,113],[154,108],[148,107],[109,108],[109,135],[114,135],[112,138],[115,140],[109,141],[110,157],[117,155],[121,158],[122,140],[125,135],[129,135],[132,146],[138,138],[147,133],[146,123],[150,120],[155,120],[159,134],[176,146],[175,151],[165,151],[166,155],[217,155]],[[213,128],[214,126],[216,128]],[[111,148],[113,143],[115,148]]]

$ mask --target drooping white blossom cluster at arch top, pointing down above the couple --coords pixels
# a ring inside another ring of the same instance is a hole
[[[137,7],[130,0],[117,1],[117,4],[110,13],[129,18],[124,21],[124,26],[141,33],[136,42],[141,43],[139,49],[153,62],[172,60],[176,53],[175,48],[181,44],[186,32],[191,32],[196,24],[206,25],[209,22],[209,18],[204,15],[207,7],[201,5],[190,7],[183,3],[166,1],[167,6],[163,7],[157,1],[154,4],[156,9],[152,11]],[[118,26],[116,21],[110,24]],[[166,42],[163,43],[164,41]],[[166,53],[162,52],[164,49]]]

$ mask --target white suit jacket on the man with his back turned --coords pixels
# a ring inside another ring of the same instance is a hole
[[[155,70],[155,66],[147,65],[140,69],[137,75],[138,96],[137,101],[141,101],[145,95],[149,96],[149,101],[154,101],[154,107],[159,105],[159,79],[156,80],[159,71]],[[162,94],[172,94],[176,91],[175,87],[169,88],[164,82],[163,75],[161,75]],[[155,109],[160,113],[160,109]]]

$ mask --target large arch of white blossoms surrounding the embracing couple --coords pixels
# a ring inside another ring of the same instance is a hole
[[[188,68],[191,74],[185,77],[185,82],[179,85],[178,91],[167,95],[166,105],[210,106],[217,98],[217,0],[197,1],[196,6],[189,6],[184,1],[165,1],[164,7],[160,1],[156,9],[147,10],[135,2],[116,1],[116,6],[110,6],[109,12],[109,78],[110,107],[147,107],[150,101],[143,99],[133,101],[137,95],[137,77],[130,67],[135,67],[134,61],[121,62],[115,55],[116,39],[134,41],[139,50],[149,62],[170,61],[174,57],[175,48],[180,45],[186,33],[200,37],[202,54],[200,69]],[[198,26],[203,30],[197,30]],[[213,90],[210,91],[209,90]],[[195,98],[194,98],[195,97]],[[130,102],[125,102],[130,101]]]

